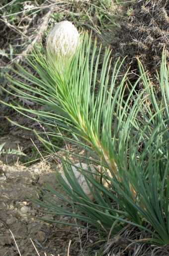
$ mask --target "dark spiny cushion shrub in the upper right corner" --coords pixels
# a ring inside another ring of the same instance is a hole
[[[122,58],[127,56],[124,70],[131,67],[134,74],[138,74],[137,57],[156,83],[156,70],[160,70],[164,47],[169,63],[169,1],[122,1],[120,8],[122,17],[112,48]]]

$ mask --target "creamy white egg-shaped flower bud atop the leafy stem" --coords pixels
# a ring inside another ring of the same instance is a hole
[[[80,34],[69,21],[55,25],[47,36],[47,59],[53,68],[60,69],[72,60],[79,45]]]

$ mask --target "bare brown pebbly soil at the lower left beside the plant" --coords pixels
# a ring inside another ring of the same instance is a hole
[[[38,197],[34,188],[36,184],[44,188],[46,181],[57,188],[54,173],[55,169],[45,162],[25,167],[19,164],[9,166],[0,161],[0,256],[19,255],[10,231],[21,256],[37,256],[30,239],[40,256],[67,256],[70,240],[72,241],[70,255],[82,255],[77,228],[45,223],[34,217],[64,219],[64,222],[74,224],[75,220],[65,216],[42,214],[40,206],[26,197],[26,195]],[[79,230],[80,236],[83,236],[83,232]]]

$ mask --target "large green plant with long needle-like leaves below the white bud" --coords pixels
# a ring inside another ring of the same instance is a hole
[[[57,170],[60,192],[50,184],[46,184],[46,188],[65,203],[40,187],[43,201],[36,198],[34,201],[52,214],[75,217],[88,223],[87,228],[100,233],[117,234],[130,224],[150,234],[140,242],[169,244],[169,68],[165,51],[158,75],[159,99],[139,60],[137,81],[131,84],[126,72],[118,83],[124,60],[118,60],[112,70],[109,48],[102,56],[101,46],[98,49],[91,36],[85,33],[81,39],[68,71],[65,72],[62,66],[62,73],[60,68],[53,70],[43,55],[45,52],[34,52],[27,62],[41,80],[20,65],[15,73],[35,87],[8,78],[19,97],[26,97],[43,107],[38,111],[12,106],[27,117],[27,113],[35,114],[47,128],[46,132],[35,133],[48,150],[55,154],[54,149],[58,149],[55,144],[52,144],[53,150],[50,149],[49,138],[62,138],[56,134],[56,127],[69,131],[73,137],[64,139],[84,149],[84,155],[77,153],[76,156],[80,163],[85,162],[88,166],[88,171],[82,165],[78,167],[69,157],[71,152],[61,149],[67,152],[62,163],[70,186]],[[102,69],[98,72],[100,62]],[[136,88],[140,82],[144,88],[139,94]],[[126,87],[129,95],[124,98]],[[92,165],[101,168],[97,179],[91,172]],[[84,175],[94,202],[85,195],[72,166]],[[147,228],[148,223],[151,229]],[[84,227],[83,223],[78,225]]]

